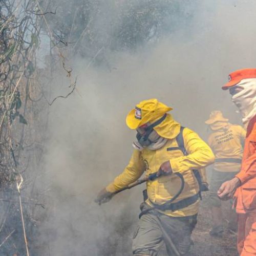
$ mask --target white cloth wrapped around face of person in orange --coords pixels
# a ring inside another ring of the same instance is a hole
[[[243,90],[232,96],[232,101],[237,105],[244,124],[256,115],[256,78],[241,80],[236,86]]]

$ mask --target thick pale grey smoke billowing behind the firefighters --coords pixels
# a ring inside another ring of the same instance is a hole
[[[71,59],[77,90],[50,108],[44,164],[48,217],[40,229],[49,246],[41,255],[131,255],[144,185],[108,204],[93,200],[129,162],[135,132],[125,117],[141,100],[157,98],[172,106],[174,118],[205,140],[204,121],[212,110],[240,123],[221,86],[230,72],[255,67],[256,3],[189,3],[184,6],[191,12],[189,24],[180,21],[175,31],[135,51],[105,49],[109,68]],[[111,15],[104,22],[110,28]],[[69,92],[68,86],[63,73],[55,74],[53,95]]]

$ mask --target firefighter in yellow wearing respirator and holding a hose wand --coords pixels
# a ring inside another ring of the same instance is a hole
[[[135,182],[144,172],[147,176],[157,174],[157,179],[147,181],[147,197],[140,206],[133,236],[133,255],[137,256],[156,256],[163,243],[168,255],[188,253],[199,207],[198,169],[215,159],[195,132],[167,114],[170,110],[157,99],[149,99],[127,115],[127,126],[137,130],[132,158],[95,200],[99,204],[109,201],[115,191]]]

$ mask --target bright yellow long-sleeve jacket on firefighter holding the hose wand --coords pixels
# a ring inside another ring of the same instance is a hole
[[[205,167],[214,162],[215,156],[210,147],[197,135],[197,133],[185,128],[183,131],[184,146],[188,153],[184,156],[180,150],[168,150],[170,147],[177,147],[176,136],[180,132],[180,124],[174,121],[168,114],[166,120],[154,128],[162,137],[168,138],[166,144],[158,150],[142,151],[134,150],[129,164],[122,174],[117,176],[113,183],[106,187],[106,190],[114,192],[126,185],[136,181],[145,172],[150,175],[158,171],[160,165],[170,161],[173,173],[180,172],[185,181],[185,186],[180,196],[173,202],[196,195],[199,192],[199,185],[192,169]],[[172,199],[181,187],[181,180],[175,174],[162,176],[154,181],[146,183],[148,199],[147,204],[164,204]],[[183,209],[177,211],[165,210],[163,213],[173,217],[195,215],[198,212],[199,200]]]

